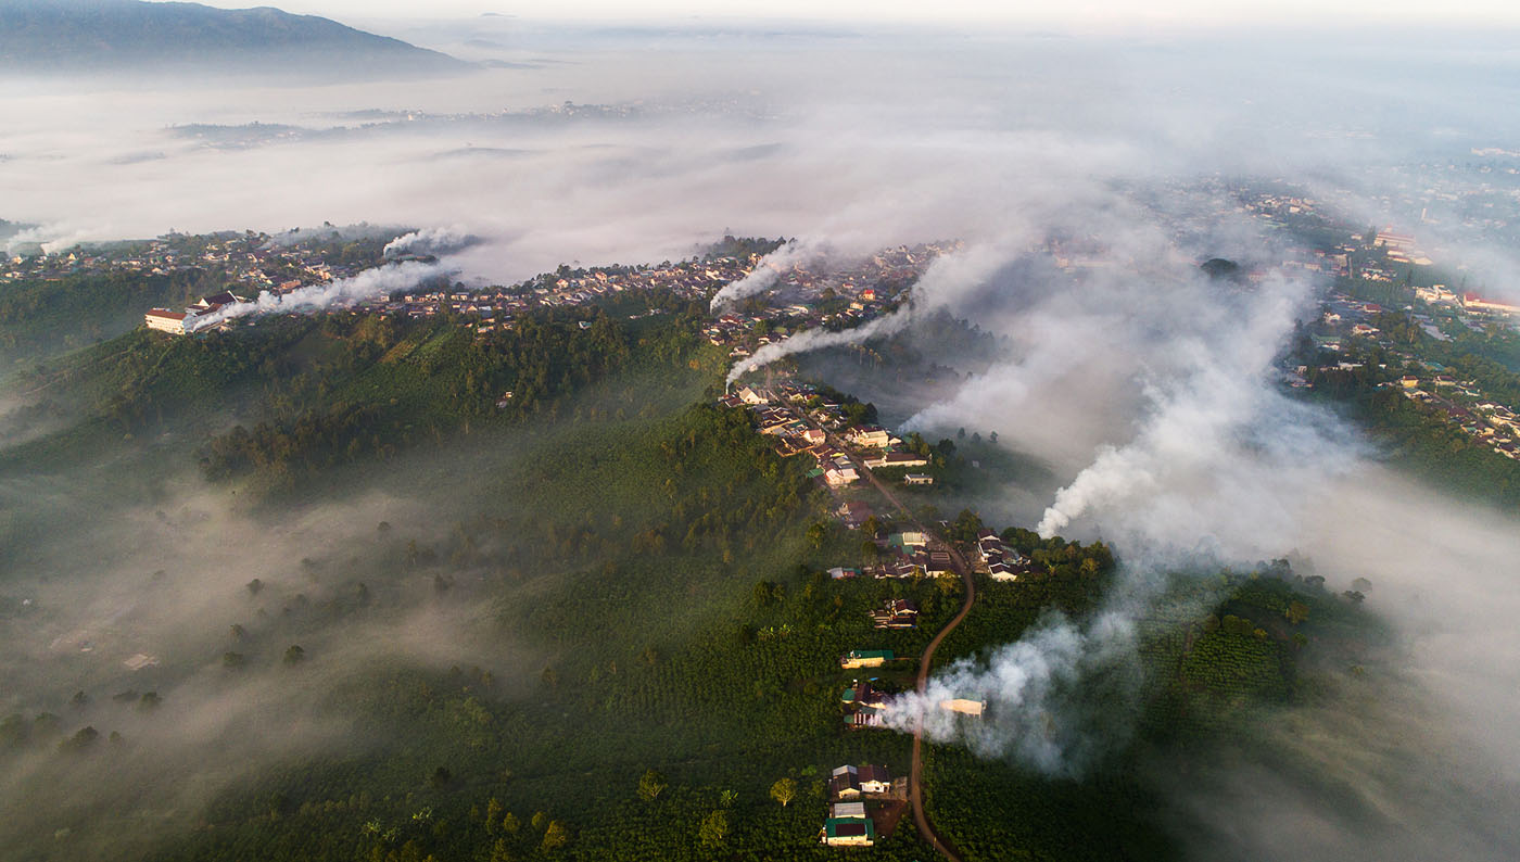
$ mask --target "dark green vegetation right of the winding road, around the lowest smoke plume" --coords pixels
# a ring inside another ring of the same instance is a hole
[[[1041,541],[1020,529],[1003,538],[1049,572],[1017,584],[979,579],[977,604],[941,646],[945,661],[1018,639],[1050,608],[1082,619],[1105,594],[1107,547]],[[968,860],[1175,857],[1172,836],[1157,826],[1164,818],[1143,777],[1146,759],[1214,739],[1236,743],[1274,708],[1312,698],[1316,684],[1306,678],[1347,672],[1351,651],[1379,639],[1356,604],[1327,593],[1322,578],[1294,575],[1286,561],[1251,575],[1176,576],[1138,620],[1138,689],[1123,695],[1125,686],[1084,681],[1102,722],[1114,725],[1107,756],[1067,780],[926,745],[935,827]],[[1140,733],[1125,745],[1129,711],[1138,713]]]

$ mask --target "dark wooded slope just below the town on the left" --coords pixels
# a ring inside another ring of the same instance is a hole
[[[546,310],[485,338],[461,324],[333,313],[196,338],[135,331],[47,374],[119,435],[228,407],[260,417],[211,436],[201,465],[290,486],[473,423],[553,412],[614,371],[686,365],[701,350],[689,313]]]

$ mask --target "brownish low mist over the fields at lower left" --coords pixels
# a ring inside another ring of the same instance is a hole
[[[409,563],[465,517],[467,480],[407,493],[353,477],[249,506],[236,485],[152,468],[146,483],[109,464],[0,479],[20,528],[0,581],[0,716],[21,751],[0,781],[8,844],[62,830],[85,856],[143,850],[272,769],[385,753],[392,733],[356,704],[397,672],[477,667],[512,696],[541,664],[483,570]]]

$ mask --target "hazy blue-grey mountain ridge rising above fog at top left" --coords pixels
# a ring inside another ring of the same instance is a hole
[[[470,64],[316,15],[140,0],[0,0],[0,70],[459,71]]]

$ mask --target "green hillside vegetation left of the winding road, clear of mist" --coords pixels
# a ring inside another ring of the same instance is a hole
[[[827,769],[907,768],[904,737],[844,727],[838,693],[848,678],[838,655],[866,642],[921,649],[927,631],[882,637],[869,626],[866,611],[888,594],[915,596],[927,626],[953,602],[933,584],[830,582],[819,570],[848,540],[839,528],[819,543],[807,538],[824,497],[801,462],[774,455],[742,412],[681,406],[702,397],[720,357],[687,350],[681,319],[640,324],[529,321],[497,342],[517,360],[476,369],[488,382],[479,389],[462,383],[476,351],[486,363],[499,359],[489,345],[444,324],[348,316],[260,321],[205,339],[137,333],[71,365],[71,389],[97,412],[21,447],[32,455],[205,427],[234,409],[299,423],[327,400],[351,398],[356,410],[400,423],[382,426],[400,435],[380,453],[398,471],[395,486],[458,512],[450,526],[385,524],[366,547],[313,547],[310,559],[292,559],[301,573],[293,584],[239,585],[249,610],[231,620],[236,646],[202,657],[217,673],[307,684],[333,660],[324,631],[389,619],[415,601],[404,584],[416,579],[433,584],[444,608],[494,607],[496,628],[520,640],[505,660],[517,667],[497,673],[442,673],[383,654],[356,666],[310,696],[368,733],[406,739],[404,748],[271,766],[179,824],[166,845],[126,842],[138,835],[132,800],[88,821],[58,815],[52,829],[114,832],[119,857],[157,859],[825,857],[815,835]],[[565,371],[573,351],[605,359],[600,377]],[[543,397],[534,395],[540,382]],[[138,409],[102,409],[123,386],[141,394],[122,400]],[[360,398],[366,386],[377,394]],[[530,397],[499,412],[483,406],[509,386]],[[290,441],[283,464],[298,465],[290,474],[299,479],[283,502],[362,486],[368,452],[350,468],[331,458],[345,445],[336,432]],[[178,450],[195,445],[187,435]],[[473,470],[420,483],[420,474],[436,476],[424,467],[436,459],[468,459]],[[208,474],[254,486],[268,470]],[[207,625],[225,632],[228,622]],[[97,701],[109,693],[93,692]],[[166,722],[182,708],[172,692],[155,704]],[[132,725],[117,715],[94,727],[120,727],[131,751]],[[17,716],[6,733],[23,725],[29,733],[15,745],[24,751],[56,748],[82,730],[67,721],[56,733],[33,730]],[[90,743],[71,754],[97,763],[108,751]],[[73,768],[50,766],[55,778]],[[667,777],[657,794],[641,780],[651,769]],[[771,797],[783,778],[795,783],[795,804]],[[486,818],[492,798],[503,813]],[[921,853],[910,827],[882,848],[885,859]]]

